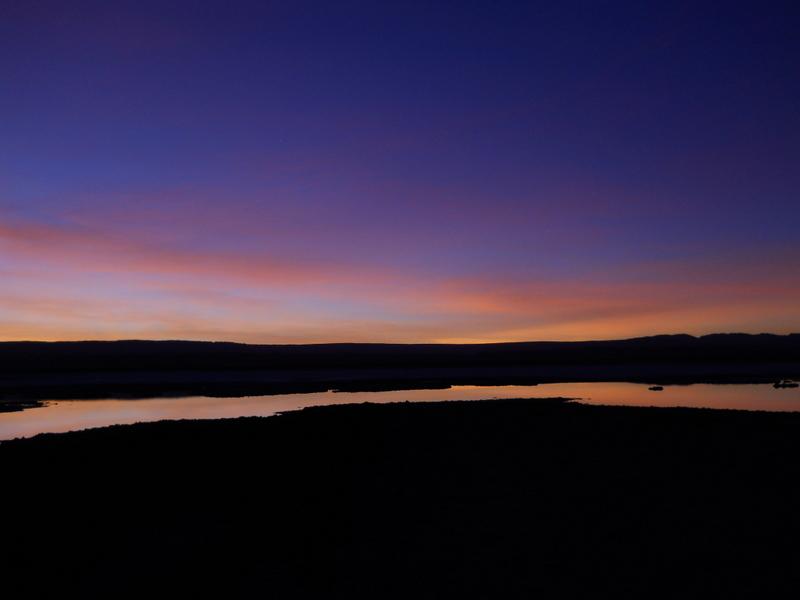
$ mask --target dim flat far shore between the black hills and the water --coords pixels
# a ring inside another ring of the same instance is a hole
[[[455,385],[629,382],[646,385],[773,383],[800,379],[800,362],[769,364],[542,365],[318,370],[0,373],[0,405],[35,400],[241,397]]]

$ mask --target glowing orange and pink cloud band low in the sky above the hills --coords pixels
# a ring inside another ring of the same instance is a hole
[[[791,249],[640,263],[584,281],[436,279],[20,222],[0,223],[0,250],[13,267],[0,288],[6,340],[503,341],[800,329]]]

